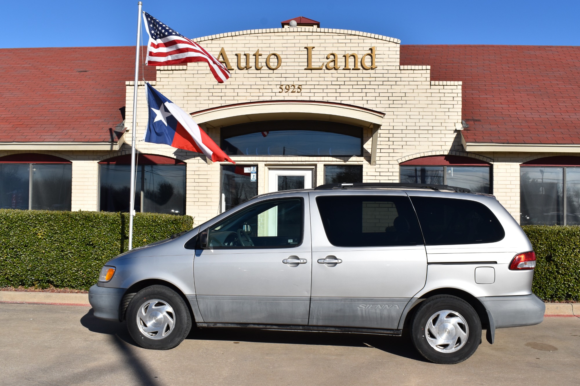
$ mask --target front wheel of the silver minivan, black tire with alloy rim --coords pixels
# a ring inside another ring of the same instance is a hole
[[[161,312],[153,314],[155,308]],[[140,319],[137,319],[138,314]],[[137,292],[127,307],[125,321],[135,343],[155,350],[176,347],[191,330],[191,314],[185,301],[174,290],[162,285],[149,286]],[[158,330],[143,331],[151,329]]]

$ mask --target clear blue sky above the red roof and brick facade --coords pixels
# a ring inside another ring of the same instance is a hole
[[[143,9],[181,34],[277,28],[296,16],[403,44],[580,45],[580,1],[169,1]],[[1,48],[135,45],[137,1],[6,1]],[[146,42],[146,41],[145,41]]]

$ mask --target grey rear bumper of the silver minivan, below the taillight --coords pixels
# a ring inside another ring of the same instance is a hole
[[[542,323],[546,305],[534,294],[523,296],[478,297],[494,318],[496,329]]]

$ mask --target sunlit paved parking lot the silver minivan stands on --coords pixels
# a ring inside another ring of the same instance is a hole
[[[458,365],[365,334],[195,330],[177,348],[137,347],[89,307],[0,304],[2,385],[580,384],[580,318],[501,329]]]

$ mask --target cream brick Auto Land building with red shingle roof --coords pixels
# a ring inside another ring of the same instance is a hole
[[[202,63],[142,67],[236,165],[138,141],[137,210],[199,224],[264,192],[404,181],[580,224],[580,48],[401,45],[296,20],[195,39],[223,84]],[[134,50],[0,50],[0,207],[128,210]]]

